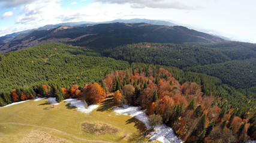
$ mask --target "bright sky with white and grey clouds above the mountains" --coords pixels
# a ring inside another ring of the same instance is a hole
[[[255,0],[0,0],[0,36],[47,24],[147,18],[256,43]]]

